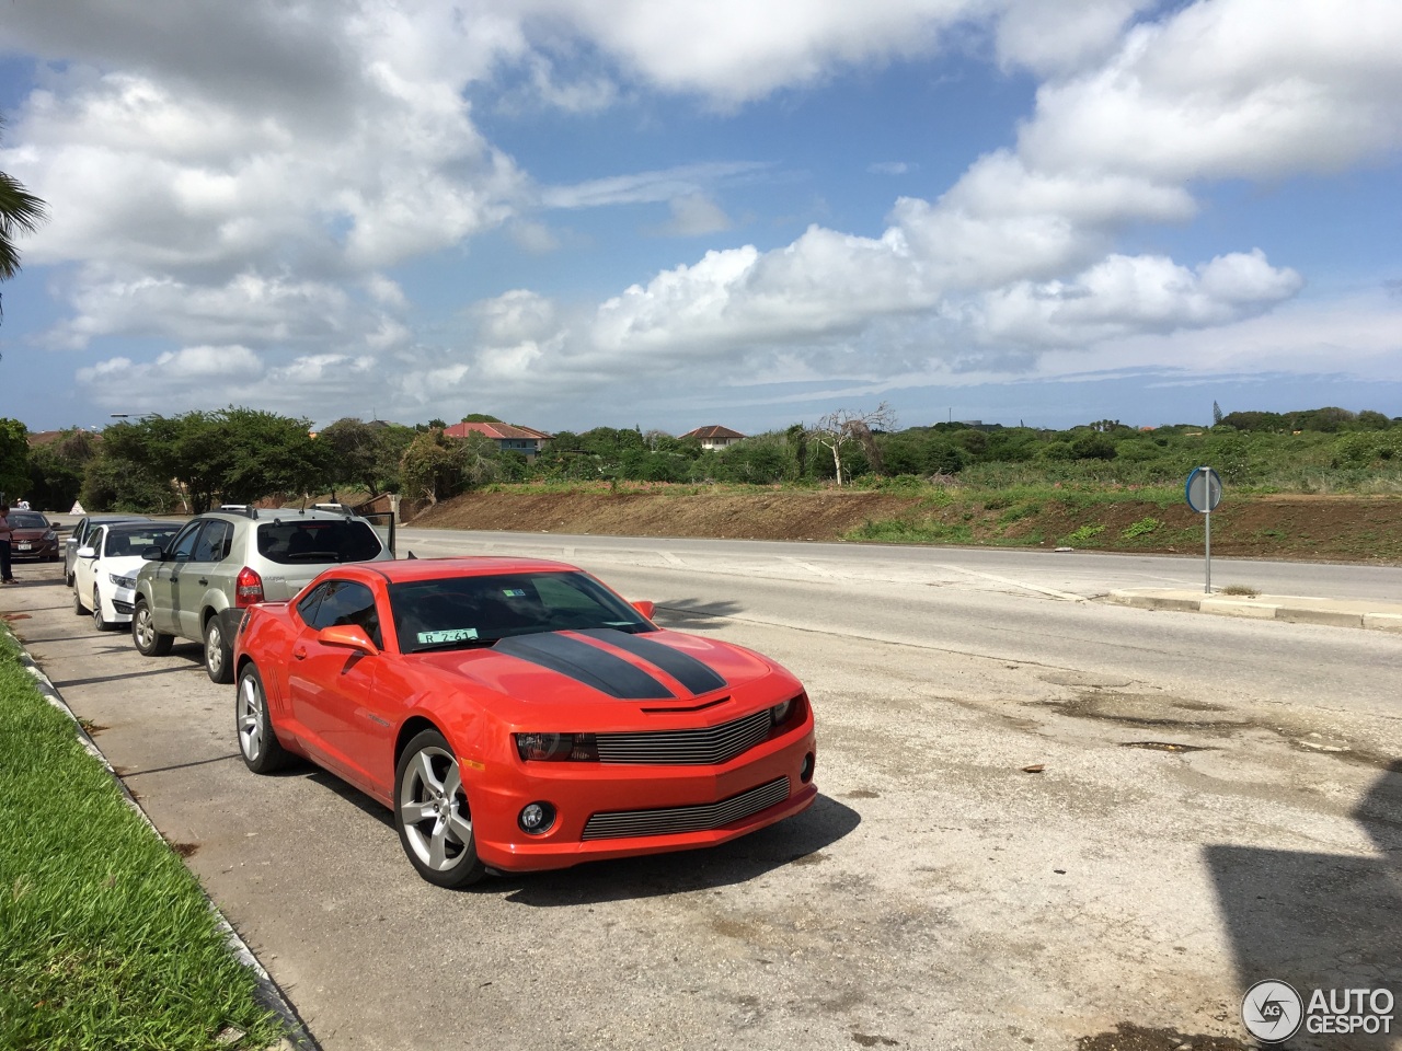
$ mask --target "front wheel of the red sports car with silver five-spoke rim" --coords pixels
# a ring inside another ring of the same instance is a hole
[[[457,757],[437,730],[414,737],[394,771],[394,827],[409,863],[437,887],[467,887],[486,873]]]

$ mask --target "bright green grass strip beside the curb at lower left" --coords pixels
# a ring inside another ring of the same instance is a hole
[[[280,1024],[181,859],[0,629],[0,1047],[264,1048]],[[236,1044],[216,1043],[226,1027]]]

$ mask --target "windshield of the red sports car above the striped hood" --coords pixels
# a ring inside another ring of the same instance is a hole
[[[586,573],[501,573],[390,586],[401,653],[489,646],[509,635],[614,628],[653,631]]]

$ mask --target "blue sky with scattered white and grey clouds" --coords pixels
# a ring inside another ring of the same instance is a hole
[[[0,416],[1402,416],[1394,0],[17,0]]]

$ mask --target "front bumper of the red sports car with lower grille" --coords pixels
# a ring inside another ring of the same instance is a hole
[[[470,789],[477,855],[502,872],[534,872],[723,844],[812,806],[815,758],[808,722],[719,767],[516,762],[496,776],[484,771]],[[530,803],[555,809],[547,832],[517,824]]]

